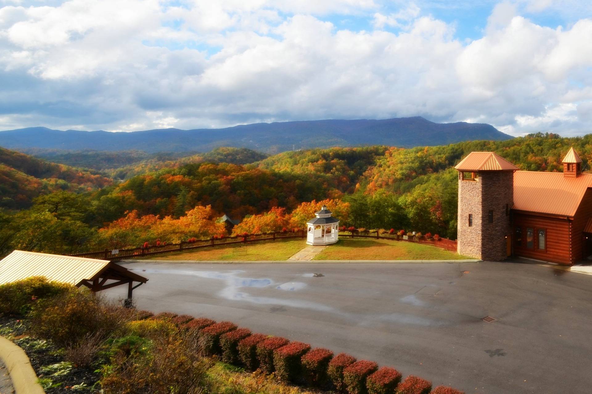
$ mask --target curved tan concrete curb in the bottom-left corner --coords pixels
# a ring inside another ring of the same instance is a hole
[[[16,394],[45,394],[25,351],[5,337],[0,337],[0,359],[6,364]]]

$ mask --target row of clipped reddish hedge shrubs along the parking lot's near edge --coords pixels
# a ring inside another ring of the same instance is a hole
[[[157,315],[138,312],[147,320],[163,320],[195,333],[205,354],[218,355],[230,364],[254,371],[275,373],[284,382],[307,383],[322,389],[347,394],[465,394],[447,386],[432,390],[432,383],[417,376],[407,376],[391,367],[378,368],[371,361],[357,361],[346,353],[333,357],[323,348],[310,348],[286,338],[253,334],[230,321],[216,323],[208,318],[191,318],[161,312]],[[191,320],[189,320],[191,318]]]

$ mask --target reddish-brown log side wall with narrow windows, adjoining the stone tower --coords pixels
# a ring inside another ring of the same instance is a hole
[[[516,227],[521,229],[522,240],[517,236]],[[527,229],[533,231],[530,248],[527,243]],[[545,230],[545,249],[539,249],[538,230]],[[569,219],[514,212],[512,223],[514,255],[571,265],[570,230],[571,220]]]

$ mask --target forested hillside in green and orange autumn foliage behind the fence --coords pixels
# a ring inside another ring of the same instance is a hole
[[[39,197],[30,209],[0,210],[0,255],[11,248],[65,253],[222,236],[225,230],[216,218],[224,213],[242,219],[237,227],[241,232],[300,227],[321,200],[346,226],[454,238],[458,184],[452,167],[462,157],[471,151],[495,151],[522,170],[562,171],[561,159],[570,146],[583,159],[583,170],[590,170],[592,135],[538,134],[413,149],[313,149],[268,158],[219,149],[209,155],[209,162],[208,155],[153,162],[139,166],[137,175],[126,172],[126,180],[113,184],[3,150],[4,165],[10,163],[11,171],[24,177],[18,181],[12,174],[9,185],[31,185],[34,193],[27,198]],[[252,159],[260,161],[213,162]],[[37,175],[63,178],[63,191]],[[4,188],[1,196],[14,193]]]

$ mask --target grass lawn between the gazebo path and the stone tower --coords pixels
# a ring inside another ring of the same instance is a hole
[[[348,239],[327,246],[314,260],[461,260],[456,252],[386,239]]]

